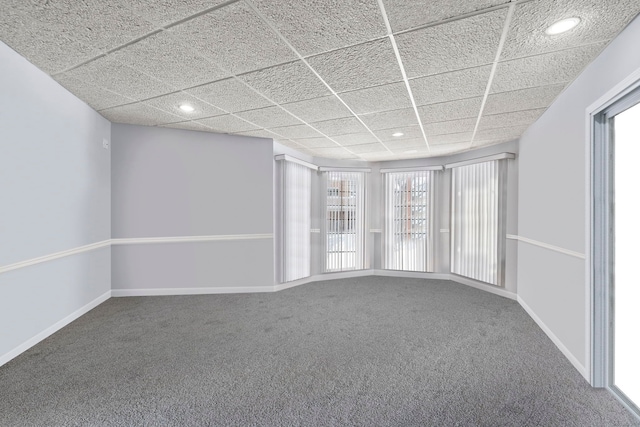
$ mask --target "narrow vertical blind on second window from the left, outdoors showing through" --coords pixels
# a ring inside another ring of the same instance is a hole
[[[324,271],[366,268],[364,172],[323,172],[326,184]]]

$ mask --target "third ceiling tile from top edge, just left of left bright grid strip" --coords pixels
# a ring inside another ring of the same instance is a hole
[[[343,92],[340,97],[356,114],[411,107],[411,100],[404,82]]]

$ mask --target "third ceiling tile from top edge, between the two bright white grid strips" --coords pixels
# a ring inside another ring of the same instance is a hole
[[[491,65],[436,74],[409,81],[416,105],[436,104],[484,95]]]

